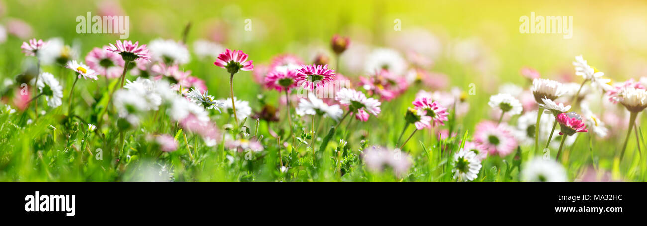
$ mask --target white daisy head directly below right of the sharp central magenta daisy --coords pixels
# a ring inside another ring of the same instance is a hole
[[[366,98],[364,93],[353,89],[342,88],[337,92],[334,99],[339,101],[340,104],[348,107],[346,115],[352,112],[355,114],[355,118],[360,121],[367,121],[369,113],[377,116],[382,111],[382,109],[380,109],[380,105],[382,104],[380,101],[373,98]],[[342,118],[341,121],[344,121],[344,118]]]

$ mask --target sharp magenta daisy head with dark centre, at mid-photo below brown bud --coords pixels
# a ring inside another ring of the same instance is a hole
[[[331,81],[334,81],[334,70],[328,65],[301,65],[296,69],[296,83],[313,91],[315,88],[323,88]]]

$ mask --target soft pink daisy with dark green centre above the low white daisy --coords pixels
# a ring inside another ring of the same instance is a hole
[[[476,125],[474,141],[483,145],[488,155],[498,154],[501,157],[512,153],[517,147],[517,141],[505,125],[498,126],[492,121],[482,121]]]

